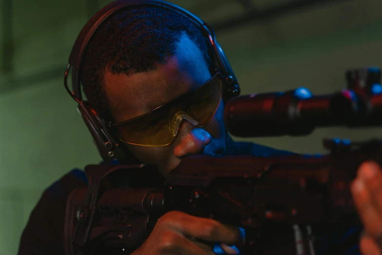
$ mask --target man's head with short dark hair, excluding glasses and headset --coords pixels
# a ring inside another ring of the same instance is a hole
[[[81,68],[87,100],[101,116],[121,122],[204,84],[214,68],[205,38],[182,15],[134,7],[109,17],[88,45]],[[184,156],[225,150],[222,102],[203,128],[181,123],[174,142],[162,147],[124,146],[163,174]],[[123,137],[122,137],[123,138]]]

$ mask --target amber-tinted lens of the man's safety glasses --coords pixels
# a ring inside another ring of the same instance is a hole
[[[170,131],[174,115],[186,112],[203,127],[214,116],[221,101],[221,79],[216,74],[207,83],[179,96],[168,104],[117,126],[119,139],[128,144],[159,147],[171,144],[175,136]]]

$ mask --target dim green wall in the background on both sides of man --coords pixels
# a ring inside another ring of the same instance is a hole
[[[89,16],[85,1],[13,3],[15,72],[0,73],[0,255],[17,253],[28,215],[47,186],[74,167],[101,160],[62,84],[71,46]],[[224,0],[218,11],[212,10],[216,3],[180,2],[211,22],[240,8]],[[200,9],[204,5],[209,8]],[[299,86],[329,93],[345,86],[347,68],[382,66],[381,10],[380,0],[343,1],[232,29],[218,39],[242,94]],[[314,153],[324,151],[322,137],[379,134],[377,128],[326,128],[308,137],[249,140]]]

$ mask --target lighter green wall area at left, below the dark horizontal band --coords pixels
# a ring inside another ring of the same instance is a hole
[[[101,160],[72,101],[61,77],[0,97],[0,254],[16,254],[43,189]]]

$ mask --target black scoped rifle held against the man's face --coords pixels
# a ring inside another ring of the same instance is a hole
[[[380,70],[353,70],[347,77],[349,88],[333,95],[312,97],[300,89],[236,98],[225,106],[225,124],[241,136],[380,125],[382,94],[371,93]],[[330,153],[319,156],[196,155],[184,158],[166,179],[143,164],[89,165],[88,188],[73,191],[67,202],[65,254],[129,254],[145,241],[161,215],[174,210],[242,227],[245,238],[237,244],[241,254],[275,254],[272,234],[267,234],[273,224],[302,225],[309,232],[322,224],[360,222],[349,185],[362,162],[382,163],[381,145],[377,139],[325,139]],[[119,185],[121,178],[128,188]],[[304,244],[306,253],[311,245],[312,240]],[[289,248],[283,254],[299,250]]]

